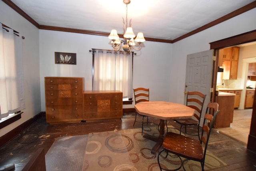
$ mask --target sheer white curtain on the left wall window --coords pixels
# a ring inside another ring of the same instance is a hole
[[[22,40],[6,29],[0,27],[0,119],[25,109]]]

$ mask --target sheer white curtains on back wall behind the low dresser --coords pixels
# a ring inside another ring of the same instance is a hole
[[[119,90],[132,98],[132,54],[94,50],[93,90]]]

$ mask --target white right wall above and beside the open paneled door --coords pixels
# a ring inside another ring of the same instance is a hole
[[[256,8],[173,44],[170,101],[184,102],[188,54],[210,50],[210,42],[256,29]],[[178,73],[178,74],[177,74]]]

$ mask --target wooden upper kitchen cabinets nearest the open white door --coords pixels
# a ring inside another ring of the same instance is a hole
[[[222,80],[236,80],[239,58],[239,47],[224,48],[219,50],[222,56]]]

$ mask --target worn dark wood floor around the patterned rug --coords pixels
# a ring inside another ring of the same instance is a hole
[[[0,167],[14,163],[16,171],[22,170],[38,148],[44,148],[45,153],[47,153],[57,137],[113,131],[114,129],[139,128],[140,124],[136,123],[133,126],[133,121],[134,113],[124,113],[122,119],[58,125],[49,125],[46,123],[45,117],[42,117],[0,148]],[[154,119],[154,122],[157,121]],[[178,127],[177,123],[173,121],[170,121],[170,124]],[[228,164],[228,166],[221,168],[222,171],[256,170],[256,154],[248,151],[245,144],[217,133],[216,130],[212,131],[208,150]],[[216,169],[215,171],[219,170]]]

